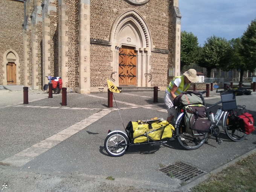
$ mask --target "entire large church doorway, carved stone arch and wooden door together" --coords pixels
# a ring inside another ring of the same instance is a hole
[[[151,69],[151,35],[142,15],[135,9],[120,13],[112,25],[110,42],[116,85],[150,87],[146,74]]]

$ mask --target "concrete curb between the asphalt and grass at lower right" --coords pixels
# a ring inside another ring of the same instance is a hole
[[[178,189],[179,189],[180,191],[190,191],[189,189],[191,189],[191,188],[195,187],[196,185],[198,185],[199,183],[201,183],[201,182],[207,180],[207,178],[209,178],[209,176],[210,176],[211,174],[213,174],[213,175],[218,174],[218,173],[221,172],[223,169],[226,169],[228,166],[233,165],[233,164],[235,164],[236,162],[238,162],[239,160],[248,157],[249,155],[253,154],[254,152],[256,152],[256,148],[255,148],[255,149],[252,149],[251,151],[249,151],[249,152],[247,152],[247,153],[245,153],[244,155],[241,155],[241,156],[238,157],[238,158],[233,159],[232,161],[226,163],[225,165],[222,165],[222,166],[220,166],[220,167],[214,169],[213,171],[211,171],[211,172],[209,172],[209,173],[203,175],[202,177],[197,178],[196,180],[190,181],[189,183],[187,183],[186,185],[184,185],[184,186],[182,186],[182,187],[179,187]]]

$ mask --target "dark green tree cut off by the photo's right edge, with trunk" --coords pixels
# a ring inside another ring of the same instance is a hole
[[[245,67],[240,71],[240,82],[242,82],[244,71],[253,72],[256,68],[256,19],[251,21],[242,35],[239,53],[243,56],[245,63]],[[244,71],[242,72],[242,70]]]

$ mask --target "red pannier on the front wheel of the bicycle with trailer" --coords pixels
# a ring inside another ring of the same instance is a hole
[[[238,116],[238,122],[239,125],[241,126],[242,130],[246,134],[250,134],[251,132],[254,131],[253,127],[253,115],[250,113],[243,113]]]

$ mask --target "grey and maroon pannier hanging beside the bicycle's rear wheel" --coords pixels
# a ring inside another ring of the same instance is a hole
[[[207,118],[206,110],[207,107],[205,106],[189,105],[186,107],[185,125],[188,134],[200,137],[209,132],[211,122]]]

